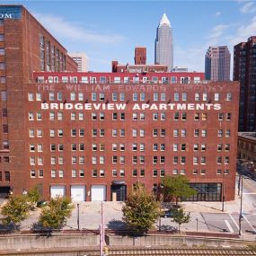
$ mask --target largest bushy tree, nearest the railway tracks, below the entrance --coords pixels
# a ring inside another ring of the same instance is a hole
[[[161,216],[160,203],[137,184],[122,208],[123,221],[138,233],[147,232]]]

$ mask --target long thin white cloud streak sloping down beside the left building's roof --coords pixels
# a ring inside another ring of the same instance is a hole
[[[124,39],[118,34],[106,34],[95,31],[86,31],[84,28],[66,22],[62,17],[34,13],[35,17],[56,37],[68,40],[80,40],[85,42],[115,43]]]

